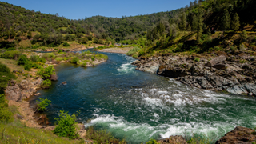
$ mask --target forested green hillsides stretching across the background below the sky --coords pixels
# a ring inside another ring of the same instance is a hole
[[[69,20],[58,14],[42,14],[0,2],[0,47],[13,50],[13,47],[58,47],[63,42],[88,46],[122,42],[154,50],[210,49],[214,39],[221,36],[218,31],[226,34],[254,31],[255,4],[253,0],[195,0],[184,8],[155,14]],[[209,38],[212,42],[206,42]],[[218,44],[215,42],[211,47],[214,46]]]

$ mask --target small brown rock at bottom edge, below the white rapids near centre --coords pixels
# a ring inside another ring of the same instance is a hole
[[[187,144],[186,139],[181,135],[170,136],[170,138],[158,140],[159,144]]]

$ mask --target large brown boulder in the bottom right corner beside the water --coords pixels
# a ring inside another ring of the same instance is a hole
[[[249,144],[256,141],[255,130],[238,126],[234,130],[225,134],[224,137],[218,139],[216,144]]]

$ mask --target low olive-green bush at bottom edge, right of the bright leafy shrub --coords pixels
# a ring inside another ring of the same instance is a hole
[[[92,139],[96,143],[126,143],[124,140],[119,141],[114,138],[113,134],[106,132],[106,130],[94,130],[93,126],[86,130],[86,138]]]

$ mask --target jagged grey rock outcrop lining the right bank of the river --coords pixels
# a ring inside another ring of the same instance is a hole
[[[208,55],[159,55],[133,62],[138,70],[175,78],[189,86],[232,94],[256,95],[256,61],[254,56],[214,53]]]

